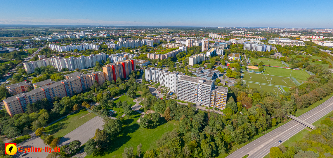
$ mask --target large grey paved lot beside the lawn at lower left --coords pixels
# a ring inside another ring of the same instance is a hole
[[[81,126],[77,127],[73,131],[69,132],[65,136],[60,138],[59,146],[70,143],[73,140],[80,140],[81,145],[86,143],[90,138],[95,136],[97,128],[103,129],[103,119],[99,116],[92,118]]]

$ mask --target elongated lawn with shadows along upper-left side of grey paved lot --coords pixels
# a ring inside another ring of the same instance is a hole
[[[89,113],[86,109],[75,112],[60,121],[45,128],[45,133],[54,134],[54,137],[63,137],[80,125],[94,118],[94,113]]]

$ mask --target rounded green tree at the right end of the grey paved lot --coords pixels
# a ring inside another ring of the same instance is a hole
[[[123,122],[120,119],[106,117],[103,119],[103,122],[104,130],[106,130],[111,136],[116,136],[123,126]]]

